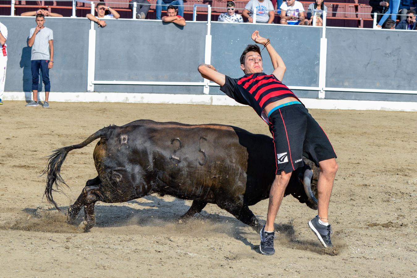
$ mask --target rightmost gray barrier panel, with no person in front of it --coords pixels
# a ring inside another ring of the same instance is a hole
[[[417,32],[327,28],[326,87],[417,90]]]

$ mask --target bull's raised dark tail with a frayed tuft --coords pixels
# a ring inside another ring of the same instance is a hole
[[[111,127],[102,128],[98,130],[96,133],[90,135],[90,137],[84,140],[83,143],[59,148],[57,150],[54,150],[52,155],[49,155],[48,164],[42,172],[42,175],[47,174],[44,196],[46,196],[48,202],[54,205],[55,208],[57,208],[59,211],[60,208],[58,208],[58,205],[53,200],[52,192],[57,191],[62,193],[62,190],[60,189],[61,184],[65,184],[68,187],[68,185],[65,183],[65,181],[60,175],[61,166],[64,163],[67,154],[70,152],[70,150],[83,148],[98,138],[108,139],[108,133],[110,128]]]

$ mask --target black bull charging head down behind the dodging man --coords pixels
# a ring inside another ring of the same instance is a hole
[[[248,206],[269,198],[276,170],[274,144],[269,136],[229,125],[152,120],[102,128],[83,143],[60,148],[50,155],[44,170],[45,195],[58,210],[52,192],[65,184],[60,168],[68,152],[98,138],[93,154],[98,176],[87,181],[69,207],[70,223],[84,206],[85,220],[80,228],[87,231],[95,223],[95,202],[126,202],[155,192],[193,200],[181,219],[214,203],[243,223],[260,228]],[[308,164],[291,175],[285,195],[291,194],[315,209],[317,199],[311,180],[317,180],[318,171],[311,161],[304,161]]]

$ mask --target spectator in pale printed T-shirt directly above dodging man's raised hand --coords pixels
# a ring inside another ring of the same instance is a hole
[[[274,22],[274,7],[270,0],[250,0],[242,15],[250,22],[254,22],[254,8],[256,8],[256,23],[273,23]]]

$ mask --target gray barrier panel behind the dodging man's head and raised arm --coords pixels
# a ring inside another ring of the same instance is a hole
[[[322,28],[213,22],[211,63],[219,72],[232,78],[244,75],[239,60],[246,45],[254,43],[251,34],[255,30],[259,30],[262,37],[271,40],[271,44],[284,60],[287,67],[283,80],[285,85],[318,87]],[[272,73],[274,68],[266,49],[262,51],[262,57],[264,72]],[[211,90],[211,93],[216,91]],[[311,95],[307,92],[305,94]]]

